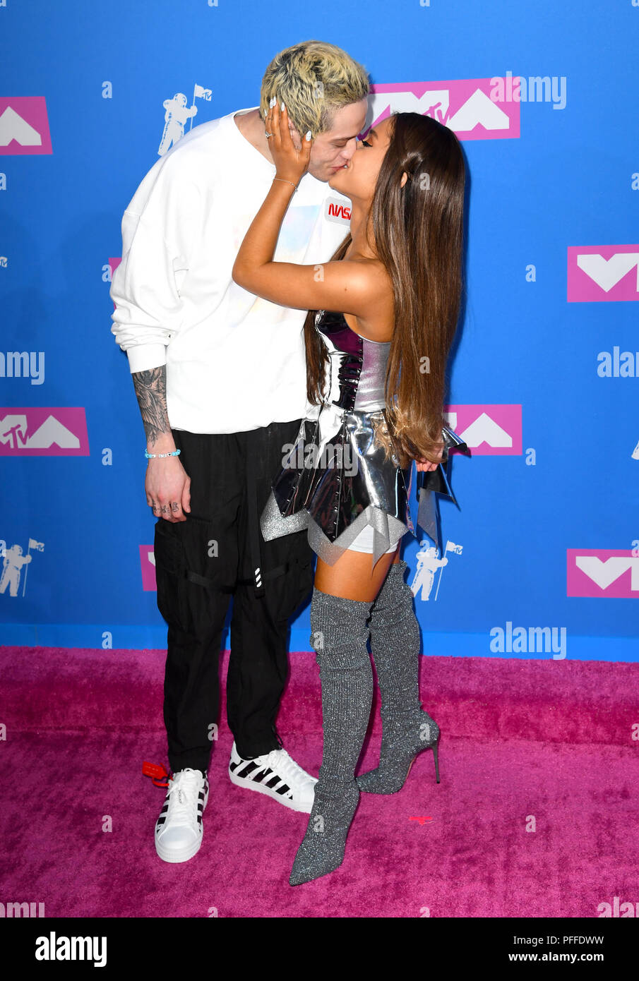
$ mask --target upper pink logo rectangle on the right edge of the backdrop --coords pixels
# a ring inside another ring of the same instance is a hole
[[[568,303],[639,300],[639,245],[569,245]]]

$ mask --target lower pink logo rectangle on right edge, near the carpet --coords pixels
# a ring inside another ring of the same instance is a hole
[[[639,598],[639,556],[621,548],[568,548],[567,596]]]

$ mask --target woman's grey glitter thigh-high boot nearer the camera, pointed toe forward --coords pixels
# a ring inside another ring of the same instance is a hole
[[[311,646],[320,668],[324,747],[313,808],[293,862],[292,886],[327,875],[344,861],[346,835],[359,801],[355,766],[373,697],[366,648],[371,606],[313,590]]]

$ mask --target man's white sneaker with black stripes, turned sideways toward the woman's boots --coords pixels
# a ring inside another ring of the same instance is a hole
[[[271,749],[264,756],[242,759],[234,743],[229,777],[238,787],[266,794],[292,810],[311,812],[317,778],[302,770],[286,749]]]

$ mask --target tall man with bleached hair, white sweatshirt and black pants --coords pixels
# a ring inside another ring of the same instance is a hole
[[[240,242],[275,179],[264,120],[277,97],[310,166],[285,216],[276,261],[326,262],[349,202],[326,181],[364,129],[368,77],[345,51],[306,41],[281,51],[260,105],[194,127],[139,184],[123,223],[111,328],[127,352],[148,458],[157,604],[168,625],[164,721],[172,771],[155,826],[162,859],[200,848],[220,705],[219,651],[233,595],[227,715],[234,784],[309,813],[316,780],[275,728],[288,675],[288,621],[310,594],[304,530],[259,532],[270,482],[305,415],[305,311],[232,279]],[[342,206],[342,207],[341,207]],[[346,211],[347,214],[347,211]]]

